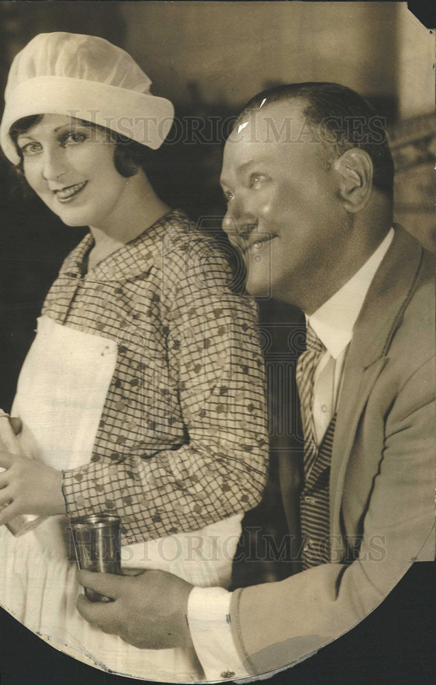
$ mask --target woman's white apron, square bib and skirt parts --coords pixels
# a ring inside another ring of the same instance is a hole
[[[18,380],[12,416],[23,421],[25,451],[55,469],[90,461],[117,345],[112,340],[38,319]],[[229,584],[241,516],[202,530],[128,545],[123,567],[163,569],[197,586]],[[75,608],[77,567],[68,558],[65,516],[51,516],[14,538],[0,527],[0,602],[18,621],[81,661],[122,675],[172,682],[201,680],[194,651],[144,650],[92,627]]]

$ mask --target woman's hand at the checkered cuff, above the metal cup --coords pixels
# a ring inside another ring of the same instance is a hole
[[[0,452],[0,525],[18,514],[65,514],[62,471],[24,456]]]

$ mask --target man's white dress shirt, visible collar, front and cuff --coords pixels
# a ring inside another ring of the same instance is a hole
[[[352,278],[314,314],[306,316],[326,351],[313,378],[313,423],[318,444],[336,410],[342,369],[352,332],[371,281],[394,238],[383,242]],[[206,680],[248,677],[231,636],[231,593],[223,588],[193,588],[188,603],[192,642]]]

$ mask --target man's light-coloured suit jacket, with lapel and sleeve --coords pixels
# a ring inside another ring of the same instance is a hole
[[[331,460],[331,562],[233,593],[233,638],[253,675],[350,630],[415,558],[434,558],[433,277],[432,256],[396,227],[344,366]]]

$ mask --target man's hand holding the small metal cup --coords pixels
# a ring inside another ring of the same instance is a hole
[[[112,602],[77,598],[77,610],[103,632],[119,635],[140,649],[192,647],[188,597],[192,585],[166,571],[136,576],[80,571],[79,582]]]

